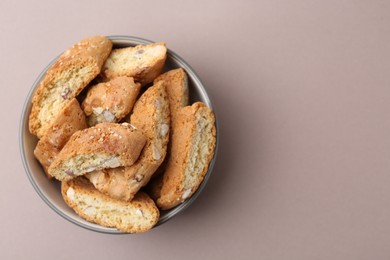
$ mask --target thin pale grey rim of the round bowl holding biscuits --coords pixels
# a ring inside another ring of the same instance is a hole
[[[133,45],[137,45],[137,44],[153,43],[153,41],[150,41],[150,40],[147,40],[147,39],[144,39],[144,38],[140,38],[140,37],[135,37],[135,36],[111,35],[111,36],[106,36],[106,37],[108,39],[112,40],[114,45],[126,44],[126,45],[129,45],[129,46],[132,46],[132,44]],[[103,227],[103,226],[100,226],[100,225],[92,223],[92,222],[89,222],[88,224],[90,224],[90,225],[87,225],[87,224],[85,224],[83,222],[80,222],[78,219],[75,219],[75,218],[71,217],[66,212],[62,211],[59,207],[57,207],[48,198],[48,196],[45,194],[45,192],[39,187],[36,179],[33,176],[32,171],[31,171],[31,167],[30,167],[30,164],[29,164],[29,162],[28,162],[28,160],[26,158],[26,152],[25,152],[24,147],[23,147],[23,144],[25,142],[24,130],[25,130],[26,127],[28,127],[28,125],[26,124],[26,122],[28,122],[26,120],[26,118],[29,117],[29,115],[27,113],[27,110],[28,110],[28,107],[30,105],[30,102],[32,101],[32,96],[33,96],[34,92],[36,91],[40,81],[42,80],[42,78],[45,75],[45,73],[47,72],[47,70],[55,63],[55,61],[58,59],[58,57],[60,55],[61,54],[59,54],[57,57],[55,57],[39,73],[39,75],[35,79],[34,83],[32,84],[32,86],[31,86],[31,88],[30,88],[30,90],[29,90],[29,92],[27,94],[27,97],[26,97],[26,99],[24,101],[24,104],[23,104],[22,114],[21,114],[20,122],[19,122],[19,151],[20,151],[20,156],[21,156],[21,159],[22,159],[22,164],[23,164],[25,173],[26,173],[30,183],[34,187],[35,191],[38,193],[39,197],[54,212],[56,212],[58,215],[60,215],[64,219],[68,220],[69,222],[71,222],[71,223],[73,223],[73,224],[75,224],[75,225],[77,225],[79,227],[82,227],[84,229],[95,231],[95,232],[98,232],[98,233],[103,233],[103,234],[131,234],[131,233],[126,233],[126,232],[123,232],[123,231],[119,231],[119,230],[117,230],[115,228]],[[191,77],[191,79],[194,81],[194,85],[196,85],[197,90],[200,91],[202,99],[204,99],[203,102],[209,108],[211,108],[213,110],[214,116],[215,116],[216,146],[215,146],[214,156],[213,156],[212,160],[209,163],[209,167],[208,167],[208,170],[207,170],[207,172],[205,174],[205,177],[203,178],[203,181],[201,182],[201,184],[199,185],[199,187],[195,191],[195,193],[188,200],[184,201],[183,203],[179,204],[178,206],[176,206],[176,207],[174,207],[174,208],[172,208],[172,209],[170,209],[168,211],[164,211],[164,213],[165,213],[164,216],[163,217],[160,216],[157,224],[152,229],[160,226],[161,224],[163,224],[163,223],[167,222],[168,220],[172,219],[173,217],[179,215],[180,213],[182,213],[185,209],[187,209],[197,199],[197,197],[199,196],[201,191],[204,189],[204,187],[206,186],[206,184],[207,184],[207,182],[208,182],[208,180],[209,180],[209,178],[211,176],[211,173],[213,171],[214,164],[215,164],[215,161],[216,161],[216,158],[217,158],[218,147],[219,147],[219,127],[218,127],[217,113],[216,113],[214,104],[212,103],[211,99],[209,98],[209,94],[207,93],[204,84],[200,80],[200,78],[199,78],[198,74],[195,72],[195,70],[186,61],[184,61],[183,58],[181,58],[179,55],[177,55],[175,52],[173,52],[169,48],[167,48],[167,56],[170,57],[171,59],[173,59],[176,63],[178,63],[180,67],[185,69],[187,75],[189,77]]]

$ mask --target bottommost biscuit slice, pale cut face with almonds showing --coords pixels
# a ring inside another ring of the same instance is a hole
[[[156,225],[160,216],[147,194],[139,192],[131,202],[120,201],[100,193],[83,177],[62,182],[61,193],[66,204],[80,217],[123,232],[146,232]]]

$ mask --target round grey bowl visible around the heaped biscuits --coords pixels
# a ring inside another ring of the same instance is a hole
[[[132,37],[132,36],[108,36],[109,39],[112,40],[114,44],[114,48],[121,48],[121,47],[128,47],[128,46],[135,46],[139,44],[149,44],[151,41],[145,40],[138,37]],[[58,58],[58,57],[57,57]],[[66,220],[70,221],[73,224],[76,224],[80,227],[86,228],[88,230],[101,232],[101,233],[108,233],[108,234],[127,234],[122,231],[119,231],[115,228],[107,228],[102,227],[100,225],[88,222],[81,217],[79,217],[68,205],[64,202],[61,196],[61,184],[58,181],[55,180],[49,180],[41,165],[34,157],[34,148],[37,144],[38,139],[30,134],[29,128],[28,128],[28,119],[31,111],[32,106],[32,96],[37,89],[40,81],[44,77],[46,71],[50,68],[50,66],[55,62],[57,59],[55,58],[47,67],[39,74],[38,78],[35,80],[34,84],[31,87],[30,92],[28,93],[28,96],[26,98],[26,101],[24,103],[24,107],[22,110],[21,115],[21,121],[20,121],[20,129],[19,129],[19,148],[21,153],[22,162],[27,174],[27,177],[29,178],[32,186],[34,187],[35,191],[38,193],[38,195],[41,197],[41,199],[56,213],[58,213],[61,217],[65,218]],[[215,109],[214,106],[209,98],[209,95],[206,92],[206,89],[204,85],[202,84],[201,80],[199,79],[198,75],[195,73],[195,71],[188,65],[187,62],[185,62],[179,55],[174,53],[173,51],[168,49],[167,54],[167,60],[165,63],[164,71],[175,69],[175,68],[183,68],[188,75],[188,85],[189,85],[189,95],[190,95],[190,104],[192,104],[195,101],[202,101],[204,102],[208,107],[210,107],[214,113]],[[181,203],[180,205],[176,206],[173,209],[166,210],[166,211],[160,211],[160,219],[158,223],[155,225],[155,227],[165,223],[166,221],[172,219],[173,217],[177,216],[179,213],[183,212],[188,206],[191,205],[192,202],[196,200],[198,195],[201,193],[203,188],[205,187],[211,172],[213,170],[214,162],[216,159],[217,151],[218,151],[218,124],[217,124],[217,118],[216,118],[216,149],[214,153],[214,157],[210,162],[209,169],[206,173],[206,176],[199,186],[198,190],[193,194],[193,196]]]

